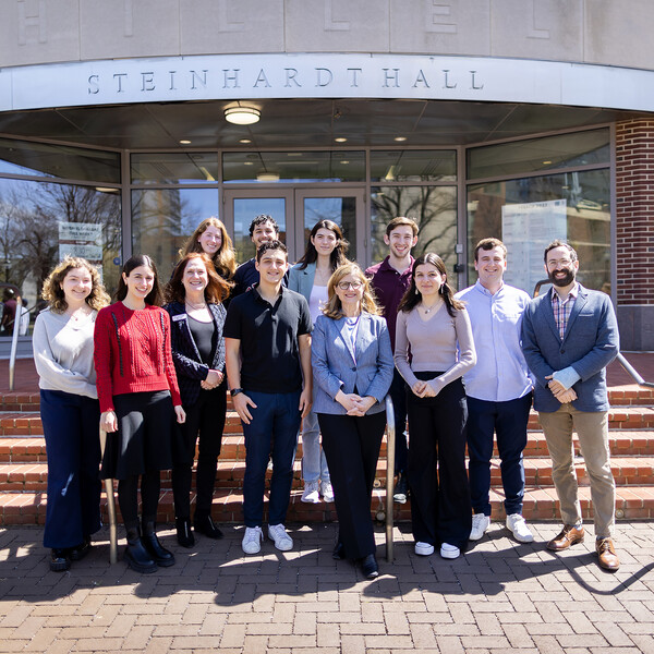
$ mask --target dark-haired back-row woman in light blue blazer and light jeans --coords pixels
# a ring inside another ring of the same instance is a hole
[[[327,303],[327,282],[331,274],[346,264],[348,241],[332,220],[318,220],[308,235],[304,256],[289,271],[289,289],[304,295],[313,323]],[[320,450],[320,429],[315,411],[302,421],[302,501],[317,504],[320,495],[334,501],[334,491],[325,452]]]

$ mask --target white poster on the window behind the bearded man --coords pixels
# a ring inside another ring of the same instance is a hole
[[[501,207],[501,240],[508,254],[505,281],[533,295],[538,281],[546,279],[545,247],[555,239],[568,238],[565,199],[531,202]]]

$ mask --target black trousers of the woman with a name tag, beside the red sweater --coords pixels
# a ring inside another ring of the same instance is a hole
[[[187,409],[186,422],[182,425],[183,453],[172,469],[172,496],[177,518],[191,517],[191,480],[195,444],[197,472],[195,476],[197,499],[195,514],[209,516],[216,483],[216,467],[220,456],[222,432],[227,414],[227,380],[213,390],[202,390],[197,402]]]

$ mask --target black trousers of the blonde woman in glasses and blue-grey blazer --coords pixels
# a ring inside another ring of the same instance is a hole
[[[318,423],[334,487],[339,541],[348,558],[360,559],[376,549],[371,496],[386,413],[362,417],[318,413]]]

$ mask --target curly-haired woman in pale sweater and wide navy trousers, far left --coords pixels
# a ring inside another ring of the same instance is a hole
[[[44,545],[62,572],[90,548],[100,529],[100,407],[93,363],[98,310],[109,304],[98,271],[65,257],[44,283],[48,308],[34,324],[34,362],[48,457]]]

